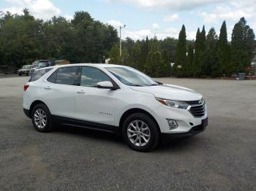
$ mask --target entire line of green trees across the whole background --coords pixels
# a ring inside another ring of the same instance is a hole
[[[178,39],[157,37],[122,40],[113,26],[95,20],[88,12],[75,12],[72,20],[40,20],[23,9],[22,15],[0,13],[0,65],[30,64],[39,59],[67,59],[71,63],[109,63],[132,66],[151,77],[219,77],[244,71],[255,50],[255,34],[244,17],[233,28],[231,42],[222,23],[206,35],[198,28],[195,41],[187,40],[182,26]],[[175,63],[171,69],[170,63]]]

